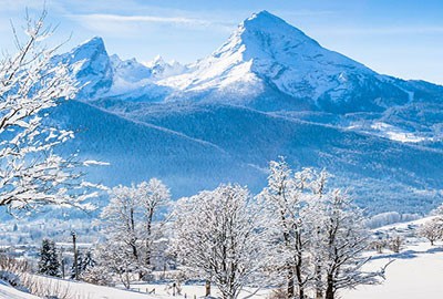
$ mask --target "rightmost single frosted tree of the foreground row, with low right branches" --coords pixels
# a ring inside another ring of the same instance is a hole
[[[369,261],[362,252],[370,245],[370,235],[361,210],[338,189],[323,196],[319,207],[321,239],[316,250],[322,257],[324,298],[336,298],[340,289],[380,283],[385,267],[378,271],[362,269]]]

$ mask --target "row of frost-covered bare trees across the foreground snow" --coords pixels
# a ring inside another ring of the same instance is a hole
[[[343,288],[382,281],[363,270],[371,235],[347,193],[328,188],[326,172],[292,172],[271,162],[267,186],[219,185],[171,200],[158,179],[110,190],[96,225],[103,241],[79,278],[93,283],[152,280],[179,269],[184,279],[216,285],[223,298],[244,287],[272,287],[286,298],[337,298]],[[115,281],[119,278],[119,281]]]

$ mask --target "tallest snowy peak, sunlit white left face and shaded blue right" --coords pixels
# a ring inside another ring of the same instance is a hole
[[[245,20],[192,69],[159,84],[177,90],[173,96],[178,99],[334,113],[384,111],[406,103],[414,90],[322,48],[267,11]]]

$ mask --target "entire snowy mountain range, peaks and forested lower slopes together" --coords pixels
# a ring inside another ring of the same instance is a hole
[[[443,87],[378,74],[269,12],[189,65],[122,61],[100,38],[54,60],[83,87],[52,115],[79,132],[68,150],[111,163],[91,174],[104,184],[158,176],[176,196],[227,182],[258,192],[285,155],[326,167],[371,213],[443,200]]]

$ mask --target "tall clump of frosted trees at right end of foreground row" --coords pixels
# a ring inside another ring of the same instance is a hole
[[[380,271],[363,271],[369,230],[362,213],[330,175],[305,168],[293,173],[284,158],[270,163],[268,186],[258,195],[268,224],[267,244],[276,282],[287,298],[334,298],[337,290],[378,283]]]

